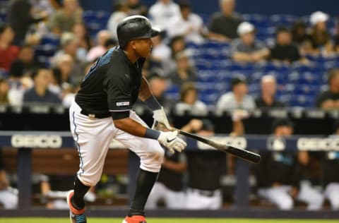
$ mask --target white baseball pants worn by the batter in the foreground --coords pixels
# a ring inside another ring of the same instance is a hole
[[[112,117],[89,118],[81,114],[81,107],[76,102],[71,104],[69,117],[71,133],[80,157],[77,175],[86,186],[95,186],[100,180],[109,144],[113,138],[140,157],[141,169],[155,173],[160,171],[164,150],[157,140],[141,138],[121,131],[114,126]],[[134,111],[130,112],[130,118],[147,126]]]

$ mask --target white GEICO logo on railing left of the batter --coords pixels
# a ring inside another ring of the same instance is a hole
[[[13,147],[59,148],[62,145],[60,135],[13,135]]]

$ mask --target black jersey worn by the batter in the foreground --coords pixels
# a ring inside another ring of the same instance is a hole
[[[76,103],[88,114],[129,111],[138,99],[144,62],[133,64],[119,47],[109,49],[83,78]]]

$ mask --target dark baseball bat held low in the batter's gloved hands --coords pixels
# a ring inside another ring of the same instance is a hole
[[[204,138],[204,137],[199,136],[199,135],[194,135],[192,133],[188,133],[186,131],[182,131],[182,130],[177,129],[177,128],[172,128],[172,130],[179,131],[179,134],[181,134],[181,135],[185,135],[189,138],[193,138],[194,140],[198,140],[201,143],[205,143],[207,145],[215,147],[215,149],[220,150],[221,152],[230,153],[230,154],[232,154],[236,157],[239,157],[241,159],[244,159],[248,162],[252,162],[252,163],[255,163],[255,164],[258,164],[260,162],[260,159],[261,159],[260,155],[254,153],[254,152],[251,152],[249,150],[244,150],[242,148],[235,147],[233,145],[227,145],[227,144],[219,143],[215,140],[210,140],[208,138]]]

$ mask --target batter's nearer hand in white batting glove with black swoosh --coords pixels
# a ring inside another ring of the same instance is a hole
[[[162,145],[165,145],[167,149],[169,149],[172,154],[177,150],[178,152],[182,152],[185,149],[187,144],[184,140],[178,137],[179,131],[169,131],[169,132],[162,132],[160,131],[159,138],[157,140]]]

